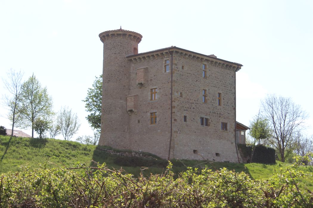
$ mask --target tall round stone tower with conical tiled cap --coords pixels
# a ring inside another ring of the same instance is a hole
[[[103,82],[101,134],[99,145],[128,149],[126,96],[129,91],[130,61],[126,56],[138,53],[139,33],[123,30],[99,34],[103,42]]]

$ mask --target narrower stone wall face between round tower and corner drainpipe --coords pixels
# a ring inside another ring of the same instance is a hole
[[[131,65],[129,95],[138,95],[138,110],[129,116],[130,149],[151,152],[167,159],[170,141],[171,73],[164,72],[164,60],[169,54],[129,60]],[[137,85],[136,72],[145,69],[144,85]],[[150,100],[150,89],[157,88],[157,99]],[[156,112],[156,124],[150,124],[150,113]]]

